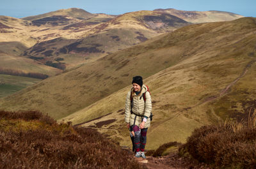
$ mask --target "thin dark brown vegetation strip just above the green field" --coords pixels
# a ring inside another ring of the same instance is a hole
[[[48,77],[48,75],[44,75],[42,73],[25,73],[24,71],[20,70],[10,70],[10,69],[3,69],[0,68],[0,74],[4,75],[13,75],[13,76],[19,76],[19,77],[31,77],[31,78],[40,78],[40,79],[45,79]]]

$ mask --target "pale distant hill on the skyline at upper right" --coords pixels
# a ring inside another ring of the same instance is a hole
[[[243,17],[241,15],[237,15],[236,13],[230,13],[227,11],[183,11],[175,9],[157,9],[155,11],[169,13],[193,24],[229,21]]]

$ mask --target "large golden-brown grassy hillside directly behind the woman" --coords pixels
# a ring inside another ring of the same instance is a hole
[[[129,145],[122,108],[131,78],[140,74],[154,103],[147,149],[184,142],[194,128],[248,113],[255,94],[255,31],[255,18],[182,27],[47,78],[0,105],[55,119],[71,114],[65,120],[74,124],[95,119],[82,126]]]

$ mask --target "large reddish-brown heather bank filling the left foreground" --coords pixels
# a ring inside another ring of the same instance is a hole
[[[0,113],[0,122],[11,120],[13,124],[15,119],[22,119],[42,124],[15,131],[6,131],[8,126],[0,128],[0,168],[145,168],[134,160],[131,152],[95,129],[58,124],[47,115],[33,113]]]

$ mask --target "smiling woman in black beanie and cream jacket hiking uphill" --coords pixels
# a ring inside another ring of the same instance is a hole
[[[145,97],[143,97],[145,96]],[[125,122],[134,132],[133,146],[136,158],[146,158],[144,150],[147,142],[147,130],[150,126],[152,102],[150,92],[140,76],[132,78],[132,88],[125,101]]]

